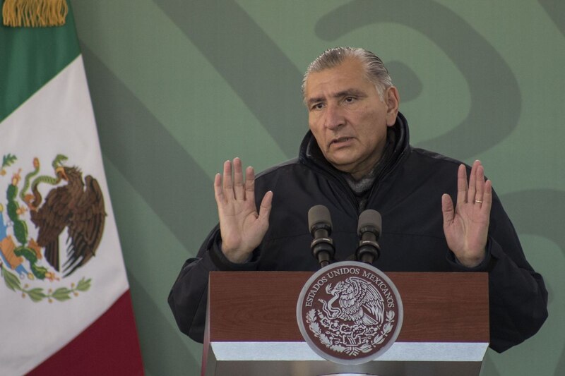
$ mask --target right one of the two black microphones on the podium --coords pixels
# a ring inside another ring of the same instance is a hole
[[[381,246],[377,241],[381,236],[382,219],[376,210],[368,209],[359,215],[357,234],[359,234],[359,245],[355,250],[355,258],[358,261],[372,264],[381,255]]]

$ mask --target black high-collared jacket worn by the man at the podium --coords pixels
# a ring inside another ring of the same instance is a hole
[[[490,347],[504,351],[540,329],[547,317],[547,291],[540,274],[525,260],[510,219],[493,193],[487,257],[478,267],[459,265],[447,248],[441,195],[455,201],[457,169],[461,162],[413,148],[402,114],[392,130],[395,145],[383,162],[367,198],[367,209],[382,216],[381,257],[375,266],[383,272],[489,272]],[[469,168],[468,168],[469,170]],[[208,272],[211,270],[319,269],[309,245],[307,212],[325,205],[331,212],[336,260],[346,260],[357,245],[357,199],[343,174],[323,158],[309,132],[299,157],[256,176],[256,201],[272,190],[269,229],[253,257],[244,264],[227,260],[220,250],[216,226],[185,262],[169,294],[169,305],[182,332],[203,341]]]

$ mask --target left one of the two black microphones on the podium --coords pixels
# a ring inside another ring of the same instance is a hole
[[[310,244],[312,255],[325,267],[333,260],[335,248],[331,240],[330,211],[323,205],[316,205],[308,211],[308,228],[314,240]]]

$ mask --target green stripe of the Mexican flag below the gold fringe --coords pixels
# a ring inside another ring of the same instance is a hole
[[[57,28],[0,23],[0,122],[80,53],[72,12]]]

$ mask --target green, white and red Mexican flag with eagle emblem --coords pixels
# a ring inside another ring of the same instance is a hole
[[[0,375],[143,375],[71,12],[0,25]]]

